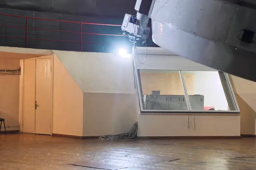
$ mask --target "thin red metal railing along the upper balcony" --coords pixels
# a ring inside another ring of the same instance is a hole
[[[121,25],[101,24],[101,23],[84,23],[84,22],[66,21],[66,20],[52,20],[52,19],[45,19],[45,18],[25,17],[25,16],[17,16],[17,15],[9,15],[9,14],[1,14],[1,13],[0,13],[0,15],[8,16],[8,17],[25,18],[25,19],[26,19],[26,27],[23,27],[23,26],[10,26],[10,25],[3,25],[3,24],[0,24],[0,26],[4,26],[4,27],[13,27],[13,28],[23,28],[23,29],[26,29],[26,35],[25,35],[25,37],[15,37],[15,36],[8,36],[8,35],[0,35],[0,37],[11,37],[11,38],[25,39],[25,40],[26,40],[26,48],[28,47],[28,40],[44,40],[44,41],[60,41],[60,42],[76,42],[76,43],[80,43],[80,51],[82,51],[82,44],[110,44],[110,43],[84,42],[84,41],[82,40],[82,39],[83,39],[83,34],[105,35],[105,36],[122,36],[122,35],[116,35],[116,34],[98,34],[98,33],[83,32],[83,25],[84,25],[84,24],[87,24],[87,25],[98,25],[98,26],[118,26],[118,27],[121,26]],[[29,20],[29,19],[80,24],[80,32],[78,32],[78,31],[66,31],[66,30],[55,30],[55,29],[44,29],[44,28],[32,28],[32,27],[28,27],[28,20]],[[30,37],[28,37],[28,30],[29,30],[29,29],[32,29],[32,30],[44,30],[44,31],[58,31],[58,32],[76,33],[76,34],[80,34],[80,41],[30,38]],[[121,29],[121,28],[120,28],[120,29]],[[120,44],[118,44],[118,45],[120,45]],[[127,44],[122,44],[122,45],[127,45]]]

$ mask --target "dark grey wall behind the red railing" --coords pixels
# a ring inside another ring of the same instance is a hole
[[[46,18],[54,20],[68,20],[78,21],[87,23],[106,23],[106,24],[122,24],[122,18],[100,18],[100,17],[84,17],[84,16],[73,16],[67,14],[55,14],[55,13],[44,13],[35,11],[23,11],[17,9],[0,8],[0,13],[11,14],[26,17]],[[26,27],[26,19],[18,17],[9,17],[0,15],[0,24],[9,26],[22,26]],[[78,31],[80,32],[81,25],[79,23],[64,23],[64,22],[53,22],[47,20],[35,20],[28,19],[28,27],[31,28],[42,28],[42,29],[54,29],[54,30],[65,30],[65,31]],[[83,32],[97,33],[97,34],[122,34],[122,30],[118,26],[97,26],[83,24]],[[50,39],[50,40],[70,40],[80,41],[80,34],[68,33],[61,31],[46,31],[46,30],[28,30],[29,38],[37,39]],[[25,28],[14,28],[0,26],[0,35],[2,36],[13,36],[13,37],[26,37]],[[26,40],[21,38],[13,37],[0,37],[1,46],[11,47],[26,47]],[[82,51],[90,52],[112,52],[118,44],[131,44],[127,37],[117,36],[104,36],[104,35],[92,35],[83,34]],[[155,46],[152,42],[151,37],[148,39],[148,46]],[[80,43],[76,42],[59,42],[59,41],[46,41],[46,40],[27,40],[28,48],[40,48],[40,49],[55,49],[55,50],[66,50],[66,51],[80,51]]]

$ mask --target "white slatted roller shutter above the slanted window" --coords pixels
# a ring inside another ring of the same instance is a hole
[[[147,59],[143,63],[146,55],[145,49],[145,47],[137,48],[138,54],[134,54],[137,69],[216,71],[213,68],[209,68],[205,65],[201,65],[199,63],[190,61],[189,59],[177,56],[169,51],[163,50],[162,48],[148,48]]]

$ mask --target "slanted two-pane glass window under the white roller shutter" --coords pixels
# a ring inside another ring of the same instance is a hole
[[[237,111],[226,74],[218,71],[138,70],[145,111]]]

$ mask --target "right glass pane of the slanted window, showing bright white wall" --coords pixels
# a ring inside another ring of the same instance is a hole
[[[230,110],[218,71],[181,71],[181,73],[186,83],[191,110]],[[191,77],[187,77],[187,74]]]

